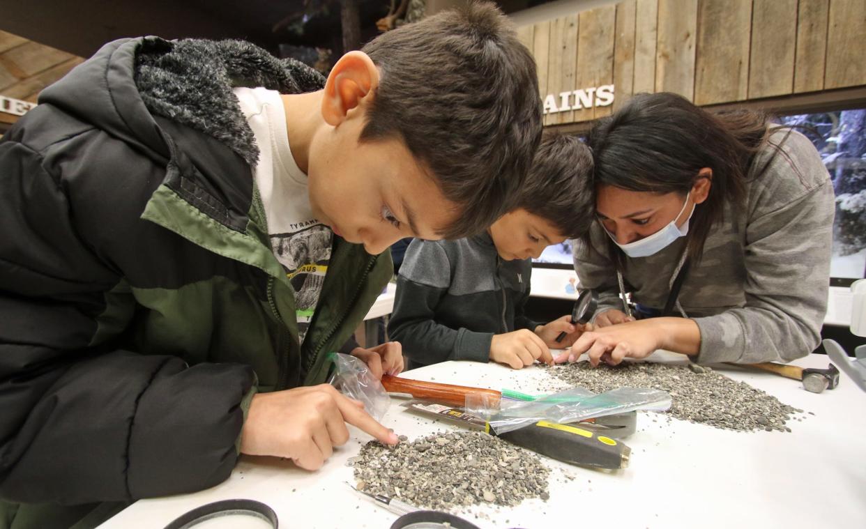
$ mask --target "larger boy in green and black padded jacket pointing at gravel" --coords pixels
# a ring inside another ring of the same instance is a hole
[[[246,42],[100,49],[0,141],[0,527],[212,487],[239,452],[319,468],[346,423],[397,442],[322,384],[327,353],[391,242],[487,228],[539,138],[533,59],[489,3],[326,80]]]

